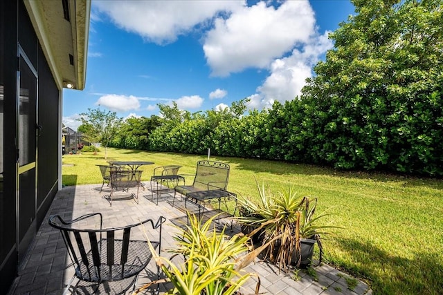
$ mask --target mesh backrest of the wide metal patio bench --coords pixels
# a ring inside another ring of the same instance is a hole
[[[229,165],[216,161],[197,162],[194,184],[197,189],[225,189],[228,187]]]

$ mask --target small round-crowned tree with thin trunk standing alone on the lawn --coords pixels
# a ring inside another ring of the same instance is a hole
[[[91,144],[100,142],[105,146],[107,159],[107,146],[118,132],[122,119],[117,117],[115,112],[88,108],[88,113],[80,114],[80,121],[82,125],[78,127],[78,131],[82,132],[84,139]]]

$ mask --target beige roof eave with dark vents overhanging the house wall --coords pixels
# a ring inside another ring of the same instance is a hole
[[[61,1],[24,1],[44,55],[59,88],[73,84],[83,90],[86,82],[90,0],[69,0],[69,27]],[[67,30],[66,30],[67,29]],[[73,56],[73,64],[69,61]]]

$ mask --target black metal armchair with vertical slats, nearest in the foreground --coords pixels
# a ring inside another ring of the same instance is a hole
[[[97,229],[98,217],[100,228]],[[89,218],[89,223],[94,222],[96,229],[82,227]],[[166,220],[163,216],[156,222],[147,219],[134,225],[109,229],[102,228],[102,219],[101,213],[86,214],[72,221],[65,221],[59,215],[49,218],[49,225],[61,231],[72,265],[75,267],[75,274],[66,286],[64,294],[71,294],[71,285],[74,288],[72,294],[78,294],[77,290],[85,294],[123,294],[131,286],[134,286],[134,290],[138,274],[152,258],[147,240],[133,238],[137,234],[143,237],[144,231],[149,231],[154,239],[158,238],[151,243],[160,254],[161,227]],[[157,267],[157,280],[159,276],[160,269]],[[75,278],[78,281],[73,285]]]

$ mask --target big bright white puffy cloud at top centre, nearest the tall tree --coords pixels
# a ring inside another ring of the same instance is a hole
[[[268,68],[315,31],[309,1],[287,1],[278,8],[259,2],[219,18],[204,39],[204,53],[214,76],[245,68]]]

